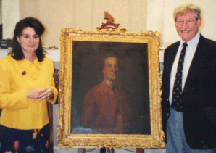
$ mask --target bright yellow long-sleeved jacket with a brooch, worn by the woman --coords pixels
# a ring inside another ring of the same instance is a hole
[[[16,129],[39,129],[49,123],[47,100],[27,98],[26,92],[33,88],[57,89],[54,85],[54,63],[49,57],[42,62],[27,59],[15,60],[8,55],[0,59],[0,109],[1,124]]]

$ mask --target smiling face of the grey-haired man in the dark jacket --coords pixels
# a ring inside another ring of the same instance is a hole
[[[199,31],[200,26],[201,19],[196,20],[194,12],[189,11],[187,13],[177,15],[175,27],[178,35],[183,41],[187,42],[193,39]]]

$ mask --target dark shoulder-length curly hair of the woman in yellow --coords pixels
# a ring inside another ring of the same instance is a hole
[[[12,57],[16,60],[22,60],[24,58],[22,47],[20,46],[20,43],[17,41],[17,37],[20,37],[22,35],[22,30],[27,27],[33,28],[36,34],[39,36],[40,40],[38,48],[36,50],[36,56],[38,58],[38,61],[42,62],[45,54],[41,44],[41,36],[45,29],[42,23],[34,17],[26,17],[25,19],[17,22],[14,29],[14,36],[12,40]]]

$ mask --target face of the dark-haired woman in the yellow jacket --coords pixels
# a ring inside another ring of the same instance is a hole
[[[33,28],[27,27],[22,30],[21,36],[17,37],[17,41],[22,47],[23,54],[34,53],[38,48],[40,38]]]

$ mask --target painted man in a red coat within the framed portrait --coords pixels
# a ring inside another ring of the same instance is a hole
[[[81,121],[85,127],[96,128],[100,133],[126,133],[130,125],[130,107],[117,81],[116,57],[104,60],[104,80],[85,95]]]

